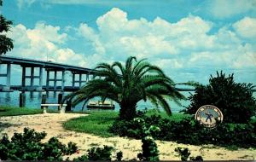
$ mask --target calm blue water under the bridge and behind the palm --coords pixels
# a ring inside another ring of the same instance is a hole
[[[19,91],[14,92],[0,92],[0,106],[13,106],[13,107],[19,107]],[[49,92],[47,103],[57,103],[58,101],[58,94],[59,92]],[[64,95],[67,95],[68,93],[65,93]],[[183,92],[183,95],[189,96],[189,92]],[[26,92],[26,107],[29,108],[40,108],[41,104],[41,92]],[[188,106],[189,101],[182,101],[183,106]],[[183,109],[183,107],[177,106],[174,102],[170,101],[170,105],[172,108],[173,113],[177,113],[180,110]],[[73,111],[79,111],[82,109],[83,103],[77,105],[76,107],[73,107]],[[57,107],[49,107],[51,109],[56,109]],[[140,101],[137,104],[137,109],[152,109],[154,108],[150,102],[144,102]],[[84,110],[86,110],[86,107],[84,107]],[[119,105],[115,104],[115,110],[119,111]]]

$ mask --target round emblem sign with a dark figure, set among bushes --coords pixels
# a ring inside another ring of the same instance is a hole
[[[195,119],[204,126],[213,128],[216,126],[217,120],[219,122],[223,121],[223,114],[218,109],[218,107],[212,105],[204,105],[196,111]]]

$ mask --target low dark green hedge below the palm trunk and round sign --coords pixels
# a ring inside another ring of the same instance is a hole
[[[174,141],[184,144],[214,144],[223,147],[256,148],[255,123],[218,124],[215,128],[205,128],[192,117],[182,120],[164,119],[158,115],[144,116],[146,128],[151,124],[160,128],[160,132],[151,133],[154,139]],[[141,124],[135,121],[117,120],[110,128],[113,134],[130,136],[137,139],[143,137]],[[221,133],[220,133],[221,132]]]

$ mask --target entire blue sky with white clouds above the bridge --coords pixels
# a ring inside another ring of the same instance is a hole
[[[88,68],[132,55],[177,83],[222,70],[256,84],[256,0],[3,0],[1,13],[7,55]]]

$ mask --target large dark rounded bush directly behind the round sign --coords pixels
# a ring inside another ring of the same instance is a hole
[[[208,85],[195,88],[185,113],[195,114],[199,107],[211,104],[222,111],[224,122],[247,123],[256,114],[253,88],[253,84],[236,83],[233,74],[225,77],[223,72],[217,72],[217,77],[211,75]]]

